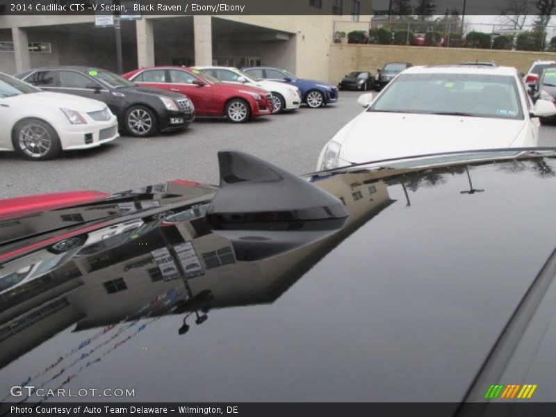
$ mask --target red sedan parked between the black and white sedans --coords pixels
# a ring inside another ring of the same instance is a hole
[[[124,74],[124,78],[152,88],[186,94],[199,116],[227,117],[243,123],[272,113],[272,96],[262,88],[221,83],[188,67],[148,67]]]

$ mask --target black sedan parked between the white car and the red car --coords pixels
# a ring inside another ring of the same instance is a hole
[[[100,68],[48,67],[16,76],[42,90],[103,101],[117,117],[122,133],[132,136],[185,129],[195,118],[195,107],[186,95],[139,87]]]

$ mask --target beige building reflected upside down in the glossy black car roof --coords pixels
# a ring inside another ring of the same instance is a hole
[[[95,252],[85,246],[72,252],[56,268],[3,294],[0,366],[73,323],[76,329],[88,329],[140,317],[273,302],[393,202],[382,181],[372,174],[368,181],[362,178],[346,174],[318,181],[341,196],[350,212],[341,231],[263,261],[236,261],[231,243],[206,227],[206,205],[198,204],[143,218],[145,225],[115,247]],[[172,301],[161,301],[171,291]]]

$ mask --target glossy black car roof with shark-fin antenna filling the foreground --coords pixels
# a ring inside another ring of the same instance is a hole
[[[0,201],[3,402],[556,400],[556,149],[219,162]]]

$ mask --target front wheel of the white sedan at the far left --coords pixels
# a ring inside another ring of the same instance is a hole
[[[40,119],[20,120],[12,135],[15,152],[32,161],[44,161],[62,153],[60,137],[50,124]]]

